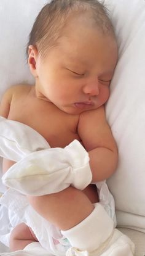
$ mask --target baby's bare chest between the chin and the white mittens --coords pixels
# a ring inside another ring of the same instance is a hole
[[[78,115],[62,112],[50,102],[17,99],[10,105],[9,119],[25,123],[40,133],[51,147],[65,147],[77,134]]]

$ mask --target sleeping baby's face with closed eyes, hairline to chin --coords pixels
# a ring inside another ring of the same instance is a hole
[[[58,46],[36,64],[37,95],[68,114],[97,109],[108,100],[117,62],[117,45],[111,35],[74,23]]]

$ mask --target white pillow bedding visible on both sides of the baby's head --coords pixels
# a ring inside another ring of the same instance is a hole
[[[33,83],[25,46],[47,0],[0,1],[0,99],[6,88]],[[119,43],[119,63],[106,114],[119,147],[119,166],[108,185],[119,226],[145,231],[145,1],[104,0]]]

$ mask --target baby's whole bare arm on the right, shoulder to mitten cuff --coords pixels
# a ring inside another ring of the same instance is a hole
[[[106,180],[117,166],[117,146],[104,107],[80,115],[78,133],[90,157],[92,182]]]

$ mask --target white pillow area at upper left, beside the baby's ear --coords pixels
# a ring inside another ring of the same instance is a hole
[[[34,19],[47,0],[0,1],[0,100],[4,91],[18,83],[33,83],[25,49]]]

